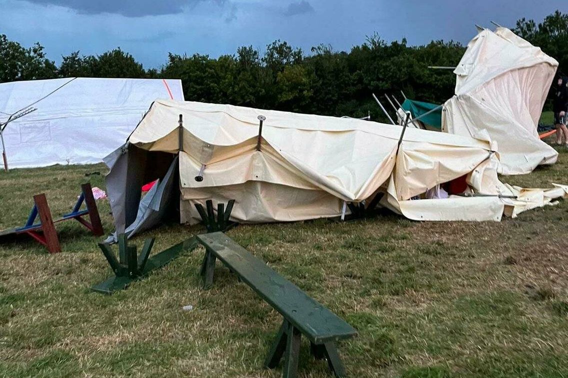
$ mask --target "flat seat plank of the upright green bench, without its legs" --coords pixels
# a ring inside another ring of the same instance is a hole
[[[320,345],[357,334],[347,322],[307,296],[302,289],[224,233],[202,234],[197,238],[312,343]]]

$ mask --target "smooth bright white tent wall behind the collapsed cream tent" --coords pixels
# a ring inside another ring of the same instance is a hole
[[[0,123],[32,103],[37,108],[11,121],[3,132],[9,166],[101,162],[124,143],[157,98],[183,100],[181,81],[62,78],[0,83]]]

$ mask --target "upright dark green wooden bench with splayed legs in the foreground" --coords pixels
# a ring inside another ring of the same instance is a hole
[[[215,261],[219,259],[258,295],[282,314],[284,320],[265,360],[265,367],[275,368],[284,356],[283,377],[295,377],[298,371],[300,338],[310,340],[316,359],[327,359],[336,376],[345,369],[336,342],[353,337],[357,331],[343,319],[307,296],[299,287],[283,278],[260,259],[222,232],[197,236],[205,247],[201,275],[204,287],[213,282]]]

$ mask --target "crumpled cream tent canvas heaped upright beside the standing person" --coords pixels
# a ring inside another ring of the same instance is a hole
[[[540,140],[537,125],[557,67],[507,28],[480,31],[454,70],[455,95],[444,104],[442,130],[476,137],[485,129],[498,145],[502,174],[553,164],[558,153]]]

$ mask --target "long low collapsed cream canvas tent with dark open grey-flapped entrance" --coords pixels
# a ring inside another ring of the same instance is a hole
[[[375,196],[419,220],[498,221],[506,206],[516,206],[499,198],[511,191],[497,178],[488,138],[407,128],[401,140],[402,131],[358,119],[157,100],[106,159],[116,229],[146,229],[172,211],[197,223],[194,205],[208,199],[235,199],[232,220],[239,222],[337,217],[345,203],[369,205]],[[460,177],[470,194],[492,196],[414,199]],[[156,179],[141,200],[141,186]]]

